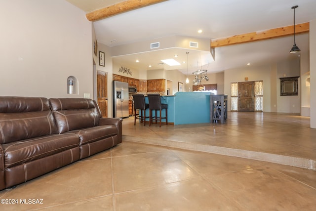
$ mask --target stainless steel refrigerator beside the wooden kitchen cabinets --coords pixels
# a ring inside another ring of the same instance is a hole
[[[113,117],[129,117],[128,83],[113,82]]]

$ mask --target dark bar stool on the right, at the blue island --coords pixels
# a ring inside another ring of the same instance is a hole
[[[152,121],[155,121],[156,124],[159,122],[159,127],[161,127],[161,120],[166,119],[166,125],[168,125],[168,104],[161,103],[160,94],[148,94],[149,101],[149,126]],[[165,117],[161,117],[161,110],[165,109],[166,115]],[[155,110],[156,116],[153,117],[153,110]],[[159,111],[159,116],[157,115],[157,111]]]

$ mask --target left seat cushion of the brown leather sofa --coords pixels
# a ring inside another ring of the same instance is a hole
[[[79,137],[72,133],[48,135],[2,144],[4,167],[17,166],[76,146],[79,146]]]

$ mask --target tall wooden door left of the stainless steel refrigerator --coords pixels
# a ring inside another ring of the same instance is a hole
[[[103,117],[108,117],[108,89],[107,74],[102,71],[97,73],[98,105]]]

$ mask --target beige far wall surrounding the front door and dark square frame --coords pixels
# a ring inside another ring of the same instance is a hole
[[[299,95],[280,96],[280,79],[300,76],[300,58],[264,66],[247,66],[225,71],[225,94],[230,97],[232,82],[263,81],[263,111],[280,113],[301,113],[301,83]],[[230,110],[230,101],[228,109]]]

